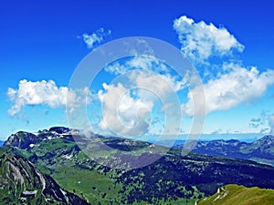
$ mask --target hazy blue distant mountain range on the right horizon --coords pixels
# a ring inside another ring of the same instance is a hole
[[[182,149],[184,144],[177,145]],[[252,143],[236,139],[198,141],[194,152],[234,159],[250,159],[274,166],[274,137],[269,135]]]

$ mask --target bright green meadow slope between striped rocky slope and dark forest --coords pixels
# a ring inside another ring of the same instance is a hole
[[[121,204],[121,200],[126,198],[124,194],[120,192],[122,184],[115,183],[115,178],[119,177],[121,173],[118,174],[115,170],[105,173],[97,167],[92,169],[89,165],[86,165],[87,169],[79,168],[77,162],[82,162],[83,165],[85,165],[84,162],[88,160],[83,152],[68,153],[67,155],[70,156],[69,159],[66,159],[63,155],[66,150],[74,146],[75,142],[69,141],[66,138],[53,138],[39,142],[39,144],[32,149],[14,149],[14,151],[26,158],[34,154],[38,157],[43,157],[47,153],[56,153],[57,155],[53,157],[52,163],[48,163],[50,160],[47,159],[38,159],[35,163],[37,168],[53,177],[63,189],[89,200],[91,204]],[[111,176],[113,176],[114,179]],[[129,194],[128,190],[134,189],[134,186],[137,185],[127,185],[126,193]],[[199,191],[195,191],[195,195],[195,197],[197,197]],[[126,200],[124,201],[127,203]],[[160,200],[159,202],[161,204],[169,204],[172,202],[172,204],[190,205],[195,203],[195,199],[170,199],[169,201]],[[134,204],[147,204],[147,201],[134,202]]]

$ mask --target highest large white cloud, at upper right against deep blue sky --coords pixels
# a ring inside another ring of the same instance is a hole
[[[227,28],[218,28],[204,21],[195,23],[185,15],[174,20],[174,30],[179,36],[184,55],[197,63],[205,63],[210,56],[226,56],[233,50],[242,52],[244,49]]]

